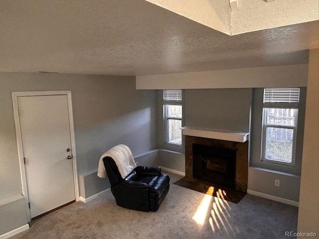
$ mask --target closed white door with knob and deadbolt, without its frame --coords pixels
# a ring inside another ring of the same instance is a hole
[[[34,218],[75,200],[67,95],[17,98],[25,174]]]

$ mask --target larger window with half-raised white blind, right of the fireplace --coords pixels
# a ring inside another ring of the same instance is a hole
[[[264,89],[262,161],[295,163],[299,88]]]

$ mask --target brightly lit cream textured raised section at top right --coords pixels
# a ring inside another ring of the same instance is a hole
[[[228,35],[319,20],[318,0],[146,0]]]

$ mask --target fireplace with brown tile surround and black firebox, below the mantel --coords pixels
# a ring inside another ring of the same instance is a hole
[[[201,179],[246,193],[248,141],[185,135],[185,177]]]

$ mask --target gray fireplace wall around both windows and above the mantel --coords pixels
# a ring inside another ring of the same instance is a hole
[[[306,104],[305,94],[306,89],[302,88],[295,167],[274,165],[261,162],[260,160],[263,108],[262,88],[254,90],[247,88],[184,90],[183,109],[185,114],[183,114],[183,119],[185,120],[186,126],[250,131],[251,150],[248,169],[248,189],[298,202]],[[158,93],[158,98],[159,147],[170,149],[161,144],[161,135],[163,134],[161,126],[161,91]],[[184,171],[184,166],[181,164],[182,161],[177,160],[171,154],[163,155],[161,152],[160,160],[161,165],[164,167]],[[280,180],[280,187],[275,187],[275,179]]]

